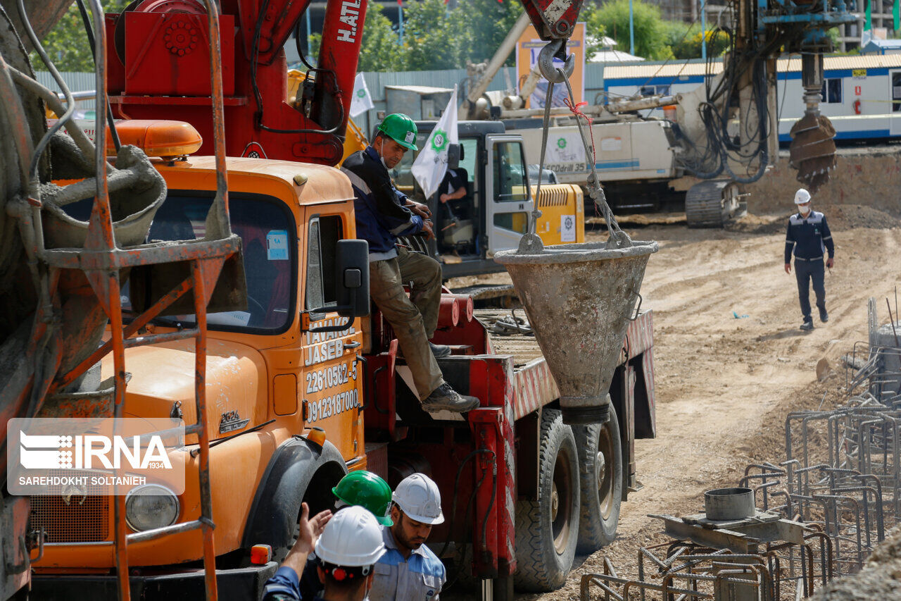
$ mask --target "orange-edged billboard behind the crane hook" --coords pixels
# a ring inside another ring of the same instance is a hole
[[[532,68],[536,68],[538,53],[542,51],[542,48],[547,43],[538,37],[538,32],[535,31],[534,25],[529,25],[523,32],[523,35],[519,37],[519,41],[516,42],[517,92],[523,88],[523,83],[528,79]],[[576,23],[572,37],[567,41],[567,53],[576,57],[576,68],[573,69],[572,76],[569,78],[569,84],[572,86],[574,100],[579,103],[585,97],[585,23]],[[554,59],[554,65],[562,68],[563,62]],[[544,108],[547,94],[548,80],[541,78],[538,81],[538,85],[532,90],[532,94],[526,98],[525,106],[527,108]],[[568,96],[566,84],[555,85],[551,106],[566,106],[563,103],[563,99]]]

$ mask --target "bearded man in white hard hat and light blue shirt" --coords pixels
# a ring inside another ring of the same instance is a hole
[[[376,564],[369,599],[438,599],[447,581],[444,564],[423,544],[432,525],[444,522],[438,485],[429,476],[412,474],[401,480],[391,498],[394,525],[382,529],[385,553]]]

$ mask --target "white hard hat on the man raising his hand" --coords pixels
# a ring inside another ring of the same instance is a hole
[[[316,541],[316,557],[336,566],[371,566],[385,550],[376,516],[359,505],[335,513]]]

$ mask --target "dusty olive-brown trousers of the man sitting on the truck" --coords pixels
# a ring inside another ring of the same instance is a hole
[[[404,284],[409,282],[413,288],[407,297]],[[394,328],[416,391],[424,399],[444,382],[429,347],[438,325],[441,265],[432,257],[399,248],[396,258],[369,264],[369,294]]]

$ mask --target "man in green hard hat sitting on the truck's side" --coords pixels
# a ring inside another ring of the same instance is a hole
[[[388,175],[406,151],[416,150],[416,133],[409,116],[385,117],[372,144],[351,154],[341,171],[350,178],[356,196],[357,236],[369,242],[369,293],[394,328],[423,409],[470,411],[478,407],[478,399],[445,383],[435,360],[450,355],[451,348],[429,342],[438,326],[441,265],[430,256],[396,246],[397,236],[423,232],[434,236],[429,209],[407,199]],[[404,282],[413,282],[410,296]]]

